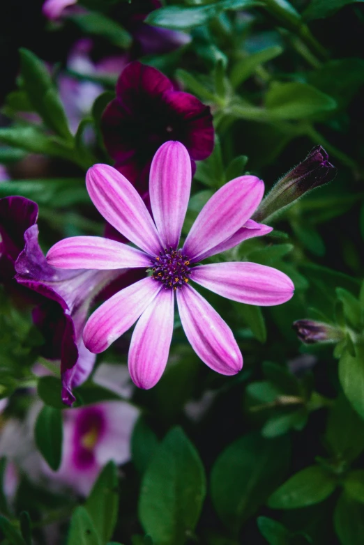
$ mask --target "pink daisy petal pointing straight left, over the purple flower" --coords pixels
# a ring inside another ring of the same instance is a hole
[[[47,261],[61,269],[110,270],[151,265],[144,252],[101,236],[63,238],[47,253]]]

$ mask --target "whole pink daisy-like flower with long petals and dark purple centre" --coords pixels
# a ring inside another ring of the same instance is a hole
[[[224,375],[240,371],[243,358],[232,330],[190,284],[250,305],[280,305],[291,298],[294,285],[274,268],[238,262],[197,265],[246,238],[271,231],[249,220],[263,197],[264,183],[255,176],[240,176],[221,187],[202,208],[181,248],[191,162],[180,142],[163,144],[151,164],[154,221],[135,187],[114,168],[94,165],[86,174],[86,186],[105,220],[141,250],[115,240],[77,236],[56,243],[47,254],[48,262],[59,268],[151,271],[93,312],[84,328],[86,347],[103,352],[137,321],[129,371],[137,386],[153,387],[167,364],[176,295],[185,335],[199,358]]]

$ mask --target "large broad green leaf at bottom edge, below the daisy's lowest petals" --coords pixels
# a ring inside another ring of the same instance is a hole
[[[162,441],[144,474],[139,519],[158,545],[183,545],[206,494],[204,467],[181,428]]]

